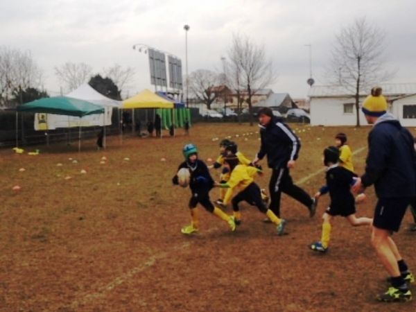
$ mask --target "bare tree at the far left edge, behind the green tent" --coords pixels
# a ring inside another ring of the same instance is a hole
[[[40,87],[42,70],[33,60],[31,51],[0,47],[0,105],[8,105],[22,89]]]

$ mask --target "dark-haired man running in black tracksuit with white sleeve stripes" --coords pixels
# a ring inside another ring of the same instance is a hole
[[[265,107],[259,110],[259,122],[261,146],[253,163],[256,164],[267,155],[268,167],[272,168],[272,177],[269,183],[271,198],[269,209],[280,216],[280,197],[283,192],[302,202],[309,209],[310,216],[314,216],[316,200],[293,184],[289,173],[289,169],[294,168],[295,160],[299,154],[299,138],[286,123],[273,116],[270,108]]]

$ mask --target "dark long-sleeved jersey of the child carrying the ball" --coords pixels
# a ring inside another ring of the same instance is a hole
[[[191,179],[189,181],[189,188],[191,189],[192,193],[208,193],[214,187],[214,180],[209,173],[209,169],[205,162],[202,162],[200,159],[196,159],[194,164],[189,162],[182,162],[177,168],[179,171],[182,168],[189,169],[191,173]],[[173,184],[178,184],[177,182],[177,175],[175,175],[172,179]]]

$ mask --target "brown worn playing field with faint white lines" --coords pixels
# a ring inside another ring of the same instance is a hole
[[[323,172],[313,173],[323,168],[322,150],[334,135],[346,132],[352,149],[359,150],[370,130],[292,127],[302,139],[292,175],[311,194],[324,183]],[[261,222],[263,215],[245,204],[243,224],[234,233],[205,211],[198,235],[180,233],[189,223],[190,192],[173,187],[171,177],[182,162],[182,146],[193,142],[202,159],[215,159],[215,139],[230,135],[252,158],[259,147],[257,131],[248,125],[198,124],[189,137],[182,132],[174,139],[111,137],[104,151],[97,151],[94,141],[83,142],[79,154],[76,142],[40,146],[37,156],[0,150],[0,311],[416,311],[416,300],[374,300],[388,285],[369,228],[353,228],[338,218],[329,252],[309,250],[309,243],[320,239],[327,197],[309,218],[305,207],[283,196],[285,236],[277,236],[272,225]],[[358,173],[366,153],[354,157]],[[218,179],[218,172],[213,175]],[[269,177],[266,170],[257,182],[266,187]],[[12,191],[15,185],[21,190]],[[367,195],[358,216],[372,216],[374,191]],[[211,199],[217,196],[214,189]],[[395,240],[416,271],[416,234],[407,230],[411,220],[406,214]]]

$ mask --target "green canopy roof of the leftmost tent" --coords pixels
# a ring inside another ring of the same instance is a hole
[[[52,98],[40,98],[39,100],[19,105],[17,106],[17,111],[82,117],[92,114],[103,114],[104,108],[77,98],[55,96]]]

